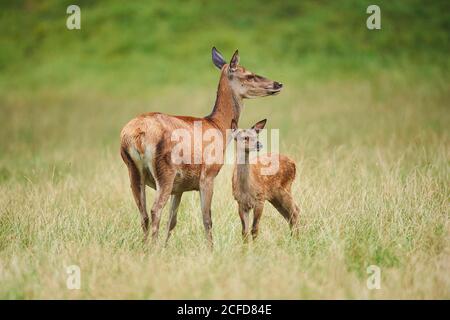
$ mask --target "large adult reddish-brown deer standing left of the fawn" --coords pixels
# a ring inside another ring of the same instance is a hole
[[[148,237],[149,217],[146,209],[145,186],[156,189],[156,196],[151,208],[152,240],[158,238],[161,211],[171,196],[170,217],[167,240],[177,223],[177,211],[181,196],[185,191],[200,192],[201,210],[206,237],[212,246],[211,200],[214,178],[219,173],[222,163],[205,163],[201,161],[173,161],[172,150],[177,142],[172,141],[174,130],[182,129],[195,137],[195,123],[201,124],[201,132],[217,130],[223,137],[222,155],[225,152],[226,130],[231,128],[232,120],[238,123],[243,107],[243,99],[275,95],[281,91],[282,84],[258,76],[239,65],[236,50],[230,63],[212,49],[212,60],[221,70],[216,102],[210,115],[203,118],[172,116],[163,113],[145,113],[128,122],[121,132],[120,153],[128,167],[131,190],[141,214],[144,241]],[[190,148],[192,142],[186,142],[190,159],[195,157],[197,149]],[[201,141],[205,150],[211,141]]]

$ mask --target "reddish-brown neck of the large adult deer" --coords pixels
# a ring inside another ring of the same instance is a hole
[[[225,132],[231,128],[231,121],[239,123],[239,116],[243,107],[242,98],[235,95],[228,81],[226,69],[220,75],[219,87],[213,111],[208,116],[213,122]]]

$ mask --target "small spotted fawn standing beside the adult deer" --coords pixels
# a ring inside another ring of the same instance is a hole
[[[232,124],[232,135],[236,140],[233,196],[239,205],[244,241],[248,239],[249,212],[252,209],[252,237],[255,239],[258,236],[259,221],[266,200],[281,213],[289,223],[291,230],[297,231],[299,209],[291,194],[291,186],[296,173],[294,161],[284,155],[278,155],[279,169],[273,175],[261,174],[261,168],[264,163],[268,163],[271,154],[260,156],[258,161],[250,164],[250,152],[259,151],[262,148],[262,144],[258,140],[258,133],[265,125],[266,119],[259,121],[251,129],[237,129],[237,124],[235,122]],[[266,159],[262,159],[262,157],[266,157]]]

